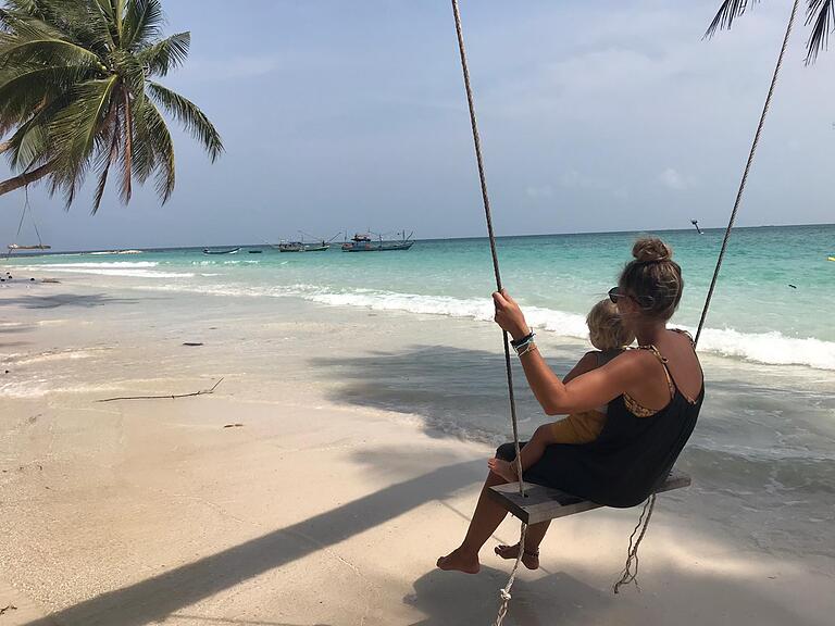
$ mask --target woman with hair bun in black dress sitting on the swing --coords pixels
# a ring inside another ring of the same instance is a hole
[[[635,506],[664,480],[696,425],[705,384],[693,340],[666,328],[682,299],[682,270],[660,239],[639,239],[634,259],[621,273],[609,298],[638,349],[627,350],[600,367],[562,380],[548,367],[531,340],[531,329],[507,291],[493,295],[496,323],[519,349],[525,376],[547,415],[565,415],[607,405],[600,435],[587,443],[554,443],[538,459],[523,454],[524,479],[546,485],[608,506]],[[538,455],[538,454],[537,454]],[[496,458],[514,461],[512,443],[500,446]],[[529,466],[528,466],[528,463]],[[495,466],[496,464],[493,463]],[[515,467],[515,463],[514,463]],[[485,493],[507,483],[490,472],[478,498],[463,542],[438,559],[441,569],[476,574],[478,552],[507,512]],[[539,566],[539,543],[550,522],[527,529],[522,562]],[[515,559],[520,546],[498,546],[496,553]]]

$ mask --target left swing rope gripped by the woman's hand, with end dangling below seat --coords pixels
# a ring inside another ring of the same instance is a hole
[[[482,185],[482,202],[484,204],[484,215],[487,221],[487,236],[490,241],[490,254],[493,256],[493,273],[496,277],[496,289],[501,291],[501,273],[499,272],[499,255],[496,252],[496,235],[493,229],[493,216],[490,214],[490,198],[487,193],[487,177],[484,173],[484,158],[482,155],[482,139],[478,135],[478,123],[475,117],[475,103],[473,102],[473,89],[470,85],[470,68],[466,63],[466,51],[464,49],[464,34],[461,28],[461,13],[458,9],[458,0],[452,0],[452,14],[456,20],[456,34],[458,35],[458,51],[461,55],[461,72],[464,75],[464,89],[466,90],[466,103],[470,108],[470,124],[473,130],[473,145],[475,148],[475,160],[478,165],[478,180]],[[504,367],[508,374],[508,398],[510,401],[510,420],[513,425],[513,447],[516,451],[516,476],[519,476],[519,492],[525,494],[525,486],[522,479],[522,459],[519,445],[519,425],[516,421],[516,401],[513,396],[513,373],[510,364],[510,343],[508,339],[508,331],[502,330],[502,342],[504,343]],[[513,587],[513,581],[516,578],[516,572],[519,571],[519,564],[522,561],[525,546],[525,533],[527,525],[522,523],[522,529],[520,530],[519,538],[519,554],[516,555],[516,562],[513,564],[508,584],[499,590],[501,596],[501,604],[499,606],[499,613],[496,616],[495,626],[501,626],[504,621],[504,616],[508,614],[508,603],[510,602],[510,589]]]

